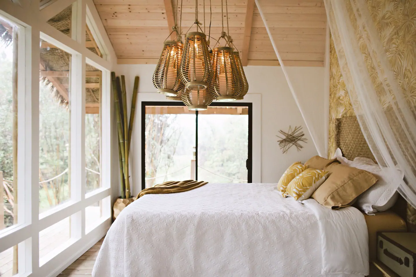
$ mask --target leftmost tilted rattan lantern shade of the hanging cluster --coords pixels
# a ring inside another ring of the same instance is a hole
[[[158,93],[166,96],[177,96],[181,89],[179,66],[182,59],[183,44],[175,41],[166,41],[163,51],[153,74],[153,84]]]

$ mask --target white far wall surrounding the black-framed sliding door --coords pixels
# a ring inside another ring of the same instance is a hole
[[[131,101],[134,77],[140,77],[139,93],[154,92],[156,89],[152,83],[152,74],[155,65],[135,64],[118,65],[117,76],[126,76],[126,88],[128,101]],[[304,107],[305,114],[311,119],[318,141],[324,143],[325,132],[324,122],[324,68],[323,67],[287,67],[290,79],[297,91],[301,105]],[[261,178],[263,183],[276,183],[287,167],[296,161],[306,162],[310,157],[317,155],[317,150],[312,142],[305,122],[302,119],[299,109],[289,87],[282,69],[278,66],[247,66],[245,74],[250,86],[248,93],[260,93],[262,95],[262,122],[261,124]],[[130,104],[129,104],[130,106]],[[136,109],[137,110],[137,109]],[[140,115],[136,114],[135,123],[140,120]],[[289,126],[302,125],[307,143],[303,143],[304,148],[297,151],[292,147],[286,154],[282,154],[279,148],[276,135],[279,130],[287,131]],[[136,126],[134,127],[136,128]],[[134,138],[140,136],[140,130],[134,129]],[[134,147],[140,145],[132,145]],[[141,157],[132,157],[132,174],[138,171]],[[139,181],[140,176],[134,176]],[[134,191],[137,194],[138,191]]]

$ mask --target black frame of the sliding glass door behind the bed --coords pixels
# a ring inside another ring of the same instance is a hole
[[[185,106],[180,101],[142,101],[141,102],[141,189],[145,189],[145,173],[146,173],[146,159],[145,159],[145,125],[146,125],[146,106]],[[253,182],[253,103],[240,103],[240,102],[213,102],[210,106],[232,106],[232,107],[248,107],[248,158],[246,161],[246,168],[248,172],[247,182]],[[198,180],[198,111],[195,112],[195,179]]]

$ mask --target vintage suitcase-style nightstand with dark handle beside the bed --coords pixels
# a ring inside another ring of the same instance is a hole
[[[416,277],[416,233],[379,233],[374,265],[386,277]]]

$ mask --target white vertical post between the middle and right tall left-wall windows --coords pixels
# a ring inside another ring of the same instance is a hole
[[[86,6],[82,0],[72,5],[72,39],[85,45]],[[85,56],[72,55],[71,66],[71,197],[85,199]],[[71,216],[71,237],[82,238],[85,233],[85,212]]]

